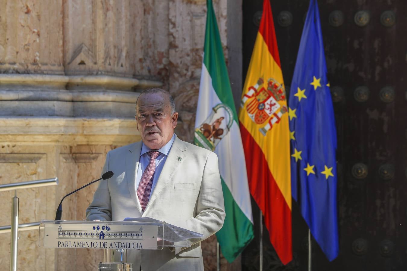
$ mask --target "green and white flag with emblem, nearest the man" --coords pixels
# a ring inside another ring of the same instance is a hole
[[[254,237],[252,206],[239,119],[212,0],[207,0],[207,7],[194,142],[219,158],[226,218],[216,236],[223,256],[232,262]]]

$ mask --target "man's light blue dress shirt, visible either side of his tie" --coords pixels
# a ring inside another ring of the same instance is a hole
[[[173,145],[173,142],[175,140],[175,134],[173,134],[173,137],[171,138],[168,143],[166,143],[161,149],[157,150],[160,152],[158,157],[155,159],[155,171],[154,171],[154,178],[153,178],[153,185],[151,186],[151,191],[150,191],[150,197],[151,194],[153,193],[154,187],[157,184],[158,177],[160,177],[160,173],[162,171],[162,168],[164,167],[165,160],[167,159],[168,152],[171,150],[171,146]],[[147,154],[147,152],[151,151],[149,147],[144,145],[142,143],[141,147],[141,152],[140,152],[140,163],[138,163],[138,169],[137,169],[137,176],[136,176],[136,191],[138,188],[138,184],[140,183],[141,176],[143,175],[144,170],[150,163],[150,156]]]

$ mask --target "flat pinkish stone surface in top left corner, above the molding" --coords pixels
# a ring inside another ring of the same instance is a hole
[[[2,0],[0,5],[0,70],[63,74],[62,0]]]

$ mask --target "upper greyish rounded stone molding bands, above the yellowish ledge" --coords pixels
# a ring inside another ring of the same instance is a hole
[[[130,118],[135,89],[162,82],[118,76],[0,74],[0,116]]]

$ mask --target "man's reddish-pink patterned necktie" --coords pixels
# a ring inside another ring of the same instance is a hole
[[[155,172],[155,159],[158,157],[160,152],[149,151],[147,154],[150,156],[150,163],[144,170],[140,183],[137,187],[137,196],[141,204],[141,209],[144,212],[147,203],[150,200],[151,186],[153,185],[154,172]]]

